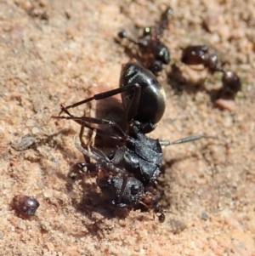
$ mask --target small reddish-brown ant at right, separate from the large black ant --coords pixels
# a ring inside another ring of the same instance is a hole
[[[212,74],[222,72],[223,88],[221,94],[235,97],[241,90],[241,80],[233,71],[224,69],[224,64],[218,60],[215,50],[207,45],[190,45],[183,50],[181,61],[186,65],[204,65]]]

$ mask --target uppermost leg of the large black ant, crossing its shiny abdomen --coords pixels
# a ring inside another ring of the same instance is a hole
[[[89,101],[92,101],[92,100],[103,100],[103,99],[106,99],[106,98],[109,98],[111,96],[114,96],[116,94],[121,94],[123,92],[126,92],[127,90],[133,88],[134,84],[130,84],[130,85],[127,85],[127,86],[122,86],[120,88],[116,88],[116,89],[112,89],[110,91],[107,91],[107,92],[104,92],[104,93],[100,93],[100,94],[94,94],[94,96],[86,99],[86,100],[81,100],[73,105],[67,105],[65,106],[65,110],[67,109],[70,109],[70,108],[73,108],[73,107],[76,107],[78,105],[82,105],[82,104],[85,104]],[[59,115],[63,112],[63,108],[61,109],[61,111],[59,112]]]

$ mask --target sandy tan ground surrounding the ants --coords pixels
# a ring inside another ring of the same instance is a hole
[[[94,178],[71,179],[71,166],[82,159],[73,144],[79,127],[50,117],[59,103],[116,88],[130,60],[114,42],[116,32],[126,27],[135,35],[135,27],[154,25],[169,3],[174,16],[163,42],[188,82],[180,86],[171,65],[161,72],[167,111],[150,136],[203,132],[218,139],[163,149],[161,224],[139,210],[123,219]],[[0,255],[255,255],[254,17],[252,0],[1,1]],[[194,88],[221,81],[181,65],[181,48],[190,43],[217,48],[240,75],[234,111]],[[17,194],[37,198],[36,216],[14,211]]]

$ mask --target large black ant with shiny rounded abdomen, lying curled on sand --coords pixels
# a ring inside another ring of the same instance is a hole
[[[96,117],[74,117],[68,111],[72,107],[85,104],[91,100],[102,100],[116,94],[122,94],[122,105],[126,111],[128,123],[127,133],[116,122]],[[67,117],[53,117],[58,119],[71,119],[81,124],[80,141],[75,141],[78,151],[84,157],[94,159],[94,165],[105,171],[98,175],[98,185],[106,196],[111,198],[112,205],[116,207],[129,207],[139,202],[154,208],[160,221],[165,219],[161,207],[158,205],[158,196],[151,193],[151,185],[157,185],[162,161],[162,145],[181,144],[196,139],[205,138],[204,135],[193,135],[170,142],[168,140],[150,139],[145,134],[156,128],[166,107],[164,89],[156,77],[142,65],[127,63],[122,65],[120,87],[110,91],[95,94],[86,100],[64,107],[61,111]],[[123,145],[110,156],[102,151],[90,147],[82,140],[84,127],[91,128],[89,123],[105,124],[114,128],[112,134],[97,129],[98,134],[118,139]],[[91,163],[88,163],[88,165]],[[83,166],[87,166],[84,163]]]

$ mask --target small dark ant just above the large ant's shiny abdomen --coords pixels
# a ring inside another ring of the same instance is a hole
[[[162,65],[167,65],[170,62],[170,52],[167,46],[161,43],[160,39],[163,32],[167,29],[169,17],[172,14],[173,9],[168,7],[161,14],[160,23],[156,26],[145,27],[143,35],[137,40],[127,37],[125,30],[118,33],[119,38],[126,38],[130,43],[138,46],[139,51],[136,57],[141,60],[142,65],[146,69],[149,69],[154,74],[162,70]]]

